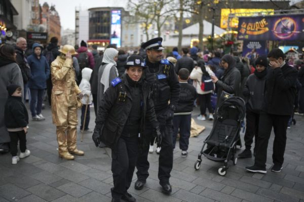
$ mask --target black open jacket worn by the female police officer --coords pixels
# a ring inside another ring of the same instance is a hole
[[[117,78],[119,80],[119,78]],[[132,94],[125,75],[122,81],[110,85],[105,91],[98,108],[97,117],[95,120],[96,128],[102,129],[102,141],[109,147],[115,147],[119,137],[122,134],[124,126],[128,120],[130,111],[132,109]],[[142,101],[141,101],[141,132],[140,143],[144,142],[143,136],[144,124],[146,119],[149,121],[153,128],[159,124],[156,118],[153,100],[150,99],[149,86],[146,81],[142,81]]]

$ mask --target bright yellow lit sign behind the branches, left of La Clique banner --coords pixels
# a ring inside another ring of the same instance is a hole
[[[235,17],[229,19],[229,14],[235,14]],[[222,29],[226,29],[228,27],[238,28],[239,17],[273,15],[273,14],[274,14],[274,9],[221,9],[220,28]]]

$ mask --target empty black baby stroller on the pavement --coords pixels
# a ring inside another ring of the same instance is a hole
[[[240,130],[245,112],[245,102],[241,97],[230,97],[223,101],[217,109],[217,118],[211,133],[204,141],[194,165],[195,170],[201,167],[202,154],[211,161],[224,162],[224,166],[218,169],[218,174],[221,176],[226,175],[230,160],[234,165],[237,164],[236,147],[240,142]]]

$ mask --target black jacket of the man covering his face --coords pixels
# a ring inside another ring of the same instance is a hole
[[[297,70],[287,64],[269,69],[262,111],[273,115],[292,115],[297,74]]]

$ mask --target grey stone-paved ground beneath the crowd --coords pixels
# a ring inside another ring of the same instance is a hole
[[[199,113],[195,109],[194,117]],[[43,111],[42,122],[30,122],[27,147],[30,157],[11,164],[11,155],[0,155],[0,201],[110,201],[112,175],[110,170],[110,149],[96,148],[92,134],[78,135],[78,147],[85,156],[74,161],[58,157],[55,126],[50,109]],[[80,112],[79,112],[80,117]],[[304,201],[304,117],[295,116],[297,124],[288,129],[285,162],[281,173],[253,174],[245,166],[253,164],[252,159],[239,159],[236,166],[227,170],[226,176],[217,174],[221,163],[203,157],[200,170],[194,163],[203,141],[212,128],[211,121],[198,121],[206,130],[190,139],[189,154],[181,158],[178,145],[174,150],[174,165],[170,182],[173,191],[170,196],[161,193],[157,173],[158,155],[149,155],[150,176],[143,190],[129,189],[137,201]],[[94,110],[91,108],[90,128],[94,128]],[[244,134],[241,134],[243,140]],[[272,139],[269,145],[267,168],[272,166]],[[240,152],[240,150],[238,150]]]

